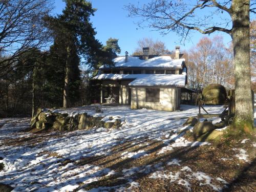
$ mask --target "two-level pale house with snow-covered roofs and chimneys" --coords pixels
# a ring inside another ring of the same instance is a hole
[[[180,47],[172,55],[143,55],[116,57],[114,66],[100,67],[93,78],[101,86],[100,102],[105,103],[110,95],[116,102],[129,104],[131,109],[154,109],[175,111],[180,107],[181,93],[187,91],[187,68],[185,58],[180,58]]]

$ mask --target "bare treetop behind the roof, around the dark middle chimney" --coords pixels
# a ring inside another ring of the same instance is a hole
[[[160,40],[153,40],[152,38],[144,37],[142,39],[139,39],[138,47],[135,49],[135,52],[133,55],[142,55],[142,48],[143,47],[149,47],[150,48],[150,55],[160,55],[160,54],[167,54],[168,51],[166,49],[166,46],[164,42]]]

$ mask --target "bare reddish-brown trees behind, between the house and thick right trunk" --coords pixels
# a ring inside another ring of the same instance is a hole
[[[211,83],[233,88],[232,53],[221,36],[203,37],[189,51],[188,83],[193,89],[202,89]]]

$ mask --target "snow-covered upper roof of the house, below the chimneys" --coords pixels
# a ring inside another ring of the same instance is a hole
[[[148,60],[142,60],[139,57],[129,56],[125,62],[125,56],[113,59],[116,68],[123,67],[165,67],[165,68],[182,68],[182,62],[185,59],[172,59],[170,56],[158,56]],[[101,66],[102,68],[110,68],[109,65]]]

